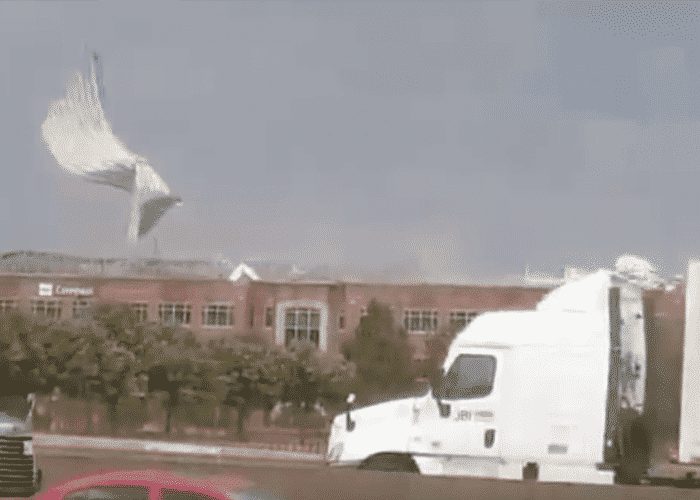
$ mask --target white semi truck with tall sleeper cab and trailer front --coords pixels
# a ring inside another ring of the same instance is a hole
[[[644,314],[643,291],[609,271],[554,289],[535,310],[482,314],[455,337],[427,394],[364,408],[351,395],[332,422],[327,461],[430,475],[692,484],[700,471],[700,263],[687,280],[676,463],[650,457]]]

